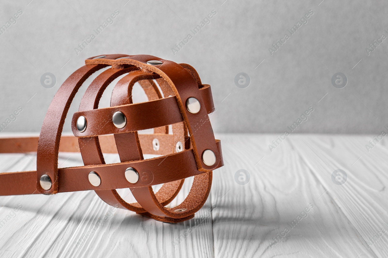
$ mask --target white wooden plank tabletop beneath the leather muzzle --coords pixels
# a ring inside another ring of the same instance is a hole
[[[94,191],[2,196],[0,257],[388,257],[387,141],[368,152],[375,135],[290,135],[270,152],[278,136],[217,135],[225,166],[204,207],[178,224],[114,209]],[[0,155],[1,172],[35,162]],[[82,165],[80,154],[60,153],[59,165]],[[249,182],[235,180],[239,169]]]

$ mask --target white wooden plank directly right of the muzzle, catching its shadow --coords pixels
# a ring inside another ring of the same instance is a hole
[[[218,135],[225,166],[212,189],[215,257],[377,257],[288,140],[269,152],[277,136]],[[236,183],[239,169],[248,184]]]

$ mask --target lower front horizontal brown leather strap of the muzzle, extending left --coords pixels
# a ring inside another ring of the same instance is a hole
[[[216,140],[218,152],[221,154],[221,142]],[[58,192],[108,190],[128,187],[144,187],[168,183],[179,179],[204,173],[193,170],[196,161],[192,149],[166,156],[140,161],[120,162],[114,164],[66,167],[58,169]],[[223,166],[221,159],[217,167]],[[135,168],[139,173],[139,181],[131,184],[125,179],[125,169]],[[157,172],[147,170],[157,167]],[[92,186],[88,174],[94,171],[99,174],[101,184]],[[175,172],[171,172],[175,171]],[[23,185],[23,187],[19,187]],[[36,191],[36,171],[0,173],[0,195],[26,195]]]

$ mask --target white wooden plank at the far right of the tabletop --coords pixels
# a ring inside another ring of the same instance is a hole
[[[341,207],[367,245],[388,256],[388,147],[385,138],[370,136],[296,136],[291,138],[315,176]],[[366,147],[369,145],[372,149]],[[331,179],[336,169],[348,178],[343,185]]]

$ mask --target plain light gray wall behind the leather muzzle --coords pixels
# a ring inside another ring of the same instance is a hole
[[[30,1],[0,4],[0,26],[23,11],[0,35],[0,123],[23,107],[3,132],[39,132],[62,82],[86,58],[107,53],[191,64],[212,87],[215,132],[284,132],[310,106],[314,111],[295,132],[377,134],[388,125],[388,39],[370,55],[365,50],[388,36],[385,1]],[[77,55],[74,48],[114,10],[120,14],[113,24]],[[193,35],[190,29],[212,10],[217,14],[210,24]],[[308,23],[271,55],[268,48],[309,10]],[[171,48],[187,34],[193,38],[174,55]],[[46,72],[57,79],[51,89],[40,84]],[[239,72],[249,75],[249,87],[235,85]],[[348,78],[342,89],[331,84],[337,72]],[[109,105],[109,93],[102,105]],[[69,121],[64,131],[71,132]]]

